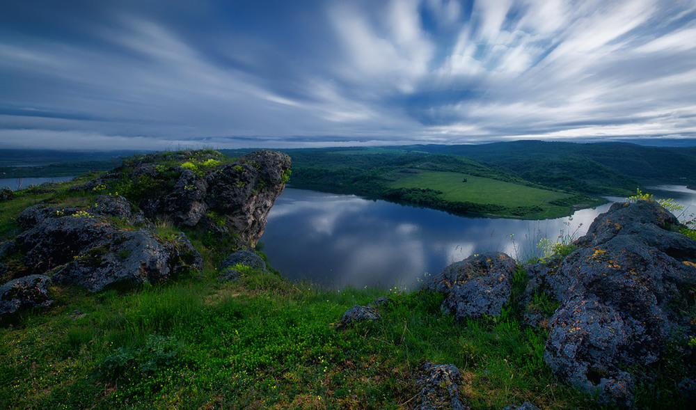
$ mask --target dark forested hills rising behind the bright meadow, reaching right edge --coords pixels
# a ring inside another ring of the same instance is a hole
[[[696,146],[512,141],[482,145],[409,145],[406,151],[462,155],[546,186],[594,193],[639,182],[696,185]],[[616,175],[620,174],[620,175]],[[583,189],[583,186],[588,186]]]

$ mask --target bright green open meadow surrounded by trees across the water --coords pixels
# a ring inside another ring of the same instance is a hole
[[[466,182],[463,182],[466,179]],[[454,172],[422,171],[399,175],[390,182],[392,188],[423,188],[442,191],[448,201],[468,201],[505,207],[541,206],[538,217],[553,218],[568,214],[569,206],[554,205],[552,201],[571,198],[571,194],[548,191],[492,178],[482,178]]]

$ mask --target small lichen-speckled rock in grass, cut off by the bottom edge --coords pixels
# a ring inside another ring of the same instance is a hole
[[[460,397],[461,376],[455,365],[425,362],[420,368],[417,384],[420,388],[417,410],[469,409],[464,397]]]

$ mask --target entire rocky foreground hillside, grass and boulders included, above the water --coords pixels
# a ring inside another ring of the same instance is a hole
[[[459,159],[434,166],[489,172]],[[422,290],[322,289],[287,281],[254,246],[289,167],[279,152],[159,152],[1,192],[0,407],[661,409],[696,399],[693,222],[636,200],[528,265],[490,252]],[[510,183],[497,175],[475,178]]]

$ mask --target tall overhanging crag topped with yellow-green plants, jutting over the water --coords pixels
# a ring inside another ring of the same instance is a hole
[[[80,189],[132,182],[128,194],[150,219],[239,235],[251,246],[261,237],[267,216],[283,192],[290,157],[258,150],[223,164],[219,152],[157,152],[127,161],[114,173]]]

